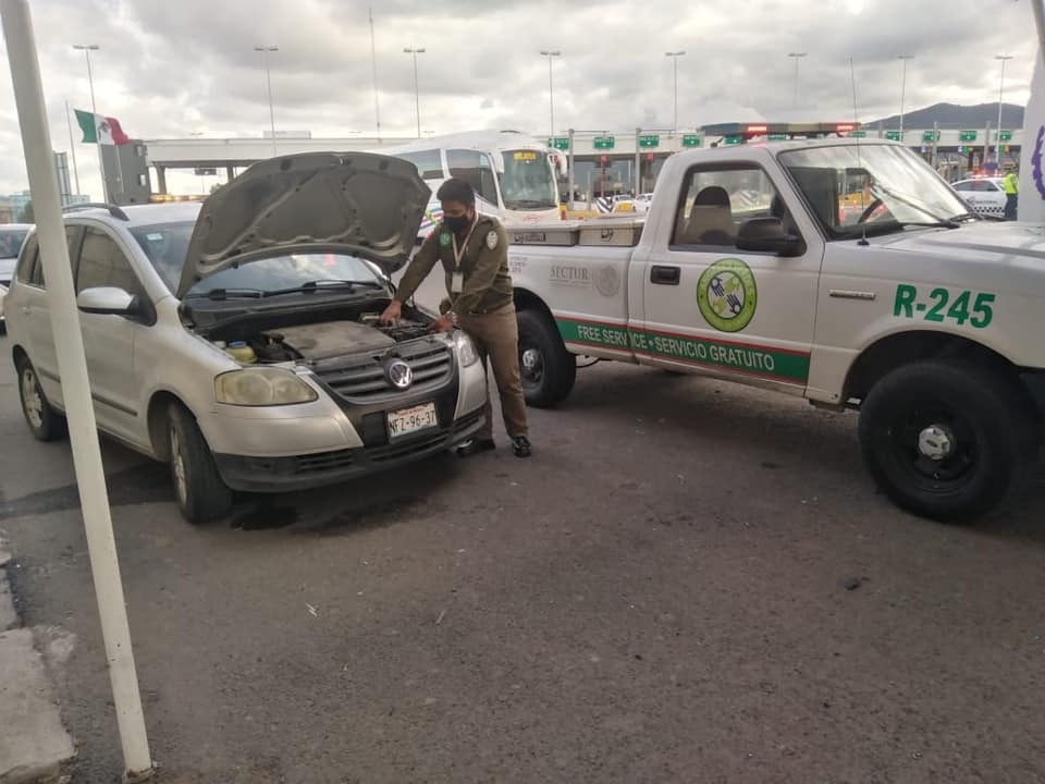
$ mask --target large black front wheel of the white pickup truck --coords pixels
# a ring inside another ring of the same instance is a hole
[[[1019,380],[972,364],[900,367],[860,412],[871,476],[898,506],[964,523],[1001,504],[1035,451],[1036,424]]]

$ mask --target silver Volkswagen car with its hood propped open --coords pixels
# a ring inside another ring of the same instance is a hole
[[[310,154],[257,163],[202,207],[70,212],[99,429],[169,462],[193,523],[232,490],[327,485],[468,440],[487,395],[470,340],[416,308],[378,322],[428,198],[411,163]],[[48,307],[30,234],[7,313],[41,440],[65,432]]]

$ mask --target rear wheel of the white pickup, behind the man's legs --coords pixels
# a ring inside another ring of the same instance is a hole
[[[528,405],[546,408],[565,400],[577,379],[577,357],[566,351],[555,324],[544,314],[519,310],[519,372]]]

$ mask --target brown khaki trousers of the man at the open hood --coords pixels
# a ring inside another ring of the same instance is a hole
[[[458,324],[475,342],[488,378],[487,359],[490,359],[493,379],[501,393],[501,413],[508,438],[528,434],[526,401],[522,399],[522,381],[519,378],[519,327],[515,320],[515,305],[509,303],[492,313],[458,317]],[[487,424],[476,438],[493,438],[493,406],[489,396],[483,413]]]

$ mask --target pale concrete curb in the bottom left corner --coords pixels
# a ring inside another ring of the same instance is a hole
[[[57,782],[76,756],[33,629],[19,628],[0,541],[0,784]]]

